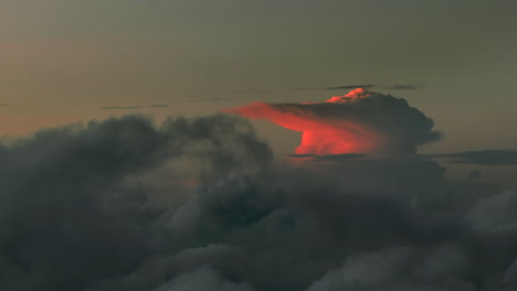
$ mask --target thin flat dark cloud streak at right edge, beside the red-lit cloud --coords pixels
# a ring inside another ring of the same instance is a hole
[[[484,150],[455,153],[421,154],[429,159],[440,159],[452,163],[485,165],[517,164],[517,150]]]

